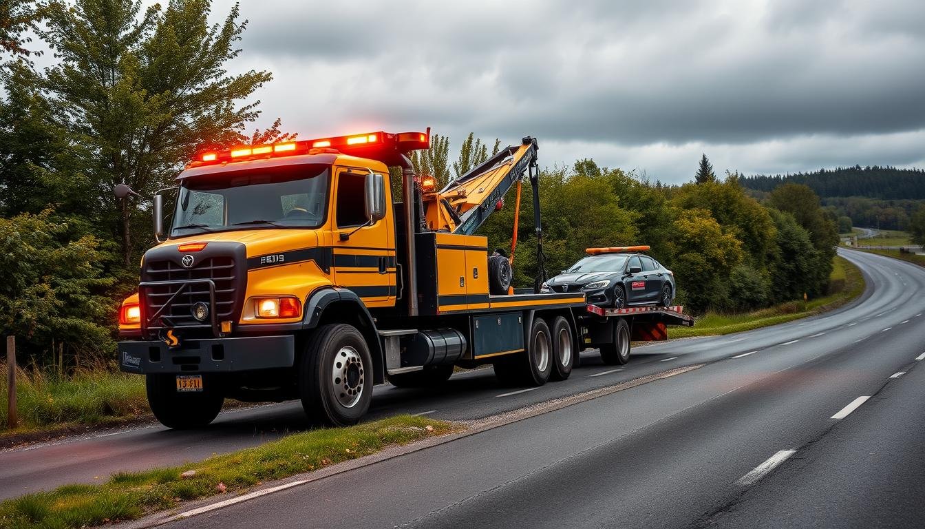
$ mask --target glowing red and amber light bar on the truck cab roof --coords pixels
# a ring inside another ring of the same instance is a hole
[[[210,150],[199,153],[191,162],[191,167],[203,165],[265,159],[269,157],[309,154],[312,149],[329,148],[345,154],[351,151],[369,149],[394,149],[405,153],[430,147],[430,128],[427,132],[367,132],[349,136],[317,138],[298,142],[283,142],[269,145],[235,145],[226,150]]]

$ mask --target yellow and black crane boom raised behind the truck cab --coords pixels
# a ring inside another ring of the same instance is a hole
[[[438,192],[424,193],[427,228],[471,235],[485,223],[495,206],[524,177],[527,168],[536,169],[536,139],[527,136],[521,145],[505,147],[473,170]],[[530,179],[536,201],[536,178]],[[539,227],[539,210],[536,209]]]

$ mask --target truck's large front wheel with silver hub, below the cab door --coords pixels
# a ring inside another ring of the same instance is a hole
[[[299,366],[299,396],[312,422],[359,422],[373,398],[373,359],[363,334],[345,323],[315,329]]]

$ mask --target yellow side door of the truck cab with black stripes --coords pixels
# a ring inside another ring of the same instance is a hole
[[[334,281],[350,288],[367,307],[395,305],[395,234],[391,194],[386,180],[386,217],[366,222],[364,184],[368,170],[337,168],[331,212]],[[341,233],[349,234],[341,240]]]

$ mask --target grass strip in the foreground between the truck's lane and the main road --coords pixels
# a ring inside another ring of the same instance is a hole
[[[0,528],[67,529],[136,520],[181,500],[224,494],[344,460],[406,445],[462,427],[425,417],[402,415],[348,428],[313,430],[260,447],[216,456],[180,467],[113,474],[100,485],[65,485],[0,503]],[[180,474],[194,470],[184,479]],[[221,484],[221,485],[219,485]]]

